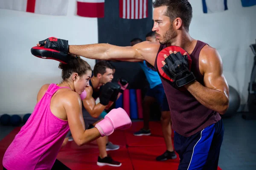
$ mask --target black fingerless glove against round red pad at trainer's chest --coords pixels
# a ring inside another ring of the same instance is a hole
[[[194,74],[189,71],[187,55],[182,56],[180,52],[170,54],[164,62],[162,70],[173,80],[175,88],[179,88],[195,80]]]

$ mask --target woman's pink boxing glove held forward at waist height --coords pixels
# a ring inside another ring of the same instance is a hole
[[[131,119],[122,108],[112,109],[95,127],[101,136],[109,136],[114,130],[125,130],[131,127]]]

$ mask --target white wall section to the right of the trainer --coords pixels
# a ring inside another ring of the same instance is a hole
[[[201,0],[189,2],[193,8],[190,35],[218,50],[224,76],[239,92],[244,105],[254,57],[249,45],[256,39],[256,6],[242,7],[241,0],[228,0],[227,11],[203,14]]]

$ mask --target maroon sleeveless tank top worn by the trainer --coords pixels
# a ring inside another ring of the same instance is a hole
[[[207,45],[205,42],[197,41],[194,50],[190,55],[192,59],[191,71],[196,80],[204,85],[204,76],[199,71],[199,53]],[[167,45],[160,45],[158,53]],[[157,55],[158,55],[157,53]],[[157,69],[157,57],[155,60]],[[160,75],[159,71],[157,70]],[[205,127],[218,122],[221,119],[219,113],[206,108],[189,91],[179,91],[166,82],[160,75],[164,91],[169,103],[172,118],[172,129],[182,136],[192,136]]]

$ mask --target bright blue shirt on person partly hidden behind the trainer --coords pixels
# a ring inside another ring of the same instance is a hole
[[[147,77],[150,88],[154,88],[155,86],[160,85],[162,83],[157,71],[154,71],[151,68],[148,68],[145,60],[143,61],[143,63],[142,62],[139,62],[139,63],[140,63],[140,67],[143,69],[145,73],[145,76]]]

